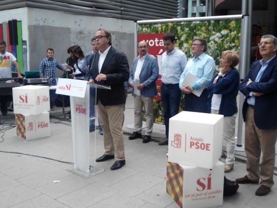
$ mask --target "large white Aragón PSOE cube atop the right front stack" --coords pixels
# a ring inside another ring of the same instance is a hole
[[[223,118],[187,111],[170,118],[168,161],[212,168],[221,157]]]

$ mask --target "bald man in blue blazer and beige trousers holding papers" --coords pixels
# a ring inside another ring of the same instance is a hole
[[[148,46],[145,41],[138,43],[139,56],[134,59],[130,71],[129,83],[133,87],[135,131],[129,136],[129,140],[141,137],[142,129],[142,107],[146,113],[146,131],[142,140],[148,143],[154,124],[153,96],[157,95],[156,80],[159,77],[159,66],[155,56],[148,54]]]

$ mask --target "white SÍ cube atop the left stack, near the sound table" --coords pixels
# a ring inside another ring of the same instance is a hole
[[[50,111],[48,86],[25,85],[13,88],[15,114],[36,115]]]

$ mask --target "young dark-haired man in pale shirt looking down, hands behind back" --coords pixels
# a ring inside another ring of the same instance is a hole
[[[181,91],[179,79],[187,64],[187,56],[175,48],[175,36],[166,33],[163,37],[166,52],[162,55],[161,98],[165,119],[166,138],[159,145],[168,145],[169,118],[179,113]]]

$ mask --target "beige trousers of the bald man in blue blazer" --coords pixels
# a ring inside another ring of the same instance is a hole
[[[153,97],[144,95],[134,96],[134,113],[135,113],[135,131],[141,133],[142,129],[142,107],[144,105],[146,113],[145,135],[151,135],[154,124],[153,114]]]

